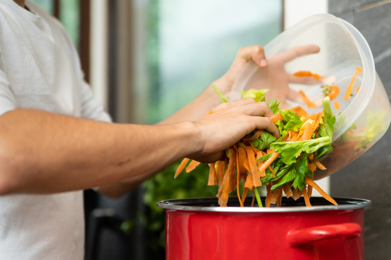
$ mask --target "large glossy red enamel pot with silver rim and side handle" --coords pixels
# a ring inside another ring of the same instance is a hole
[[[283,198],[282,207],[219,207],[217,198],[165,200],[166,260],[364,260],[369,200]],[[264,198],[262,199],[264,201]]]

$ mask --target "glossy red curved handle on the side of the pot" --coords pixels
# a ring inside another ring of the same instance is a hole
[[[291,230],[287,234],[287,241],[293,247],[337,237],[345,237],[347,240],[359,237],[361,234],[362,228],[357,223],[342,223]]]

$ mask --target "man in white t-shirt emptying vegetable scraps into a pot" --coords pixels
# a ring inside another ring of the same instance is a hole
[[[213,82],[225,96],[250,60],[267,65],[262,47],[241,48]],[[1,0],[0,259],[83,259],[83,189],[118,197],[179,158],[216,161],[256,128],[279,136],[267,104],[219,103],[209,86],[158,125],[110,123],[59,22]]]

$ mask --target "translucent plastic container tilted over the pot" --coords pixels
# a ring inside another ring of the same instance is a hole
[[[319,46],[319,53],[295,58],[283,66],[288,74],[311,71],[322,76],[323,82],[318,81],[313,85],[288,83],[293,90],[303,90],[317,104],[315,108],[308,108],[301,99],[296,99],[287,101],[289,107],[301,106],[310,115],[323,110],[321,99],[324,94],[321,85],[339,87],[339,95],[332,100],[332,109],[337,119],[333,131],[334,150],[323,158],[322,163],[327,170],[317,171],[314,175],[315,179],[321,179],[352,162],[383,136],[390,124],[391,106],[375,71],[368,43],[350,23],[331,14],[311,16],[282,32],[264,46],[266,59],[270,64],[274,55],[310,44]],[[356,67],[362,68],[362,72],[355,78],[353,96],[345,101],[344,94]],[[285,72],[282,73],[286,75]],[[267,74],[267,70],[250,62],[235,80],[230,99],[240,99],[239,90],[272,89],[273,83],[280,82],[283,74]],[[260,80],[265,78],[268,80]],[[356,93],[358,87],[359,91]],[[339,110],[335,109],[334,101],[339,102]]]

